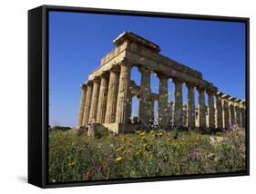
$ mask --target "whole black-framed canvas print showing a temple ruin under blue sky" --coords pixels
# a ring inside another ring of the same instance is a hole
[[[28,11],[28,182],[249,175],[249,18]]]

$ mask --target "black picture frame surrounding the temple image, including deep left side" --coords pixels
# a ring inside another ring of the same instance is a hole
[[[246,170],[239,173],[181,175],[147,179],[109,179],[87,182],[47,182],[48,160],[48,12],[76,12],[105,15],[142,15],[194,20],[242,22],[246,24]],[[28,182],[40,188],[101,185],[171,179],[205,179],[250,174],[250,19],[215,15],[184,15],[115,9],[42,5],[28,11]]]

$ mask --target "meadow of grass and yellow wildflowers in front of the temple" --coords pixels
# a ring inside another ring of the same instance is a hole
[[[49,181],[145,178],[245,170],[245,132],[137,131],[100,139],[49,131]]]

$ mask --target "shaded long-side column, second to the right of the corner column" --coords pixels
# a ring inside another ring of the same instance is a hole
[[[159,125],[167,125],[168,76],[158,73],[159,77]]]

